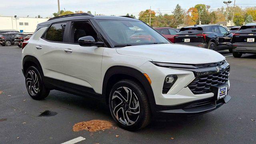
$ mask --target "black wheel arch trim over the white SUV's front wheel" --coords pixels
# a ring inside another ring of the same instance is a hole
[[[130,67],[126,67],[126,66],[112,66],[112,67],[108,68],[108,70],[105,73],[103,84],[102,84],[102,94],[104,96],[108,97],[108,90],[107,90],[108,82],[109,82],[110,78],[116,74],[128,75],[128,76],[131,76],[131,77],[135,78],[136,80],[138,80],[140,82],[140,84],[142,84],[142,86],[145,89],[145,92],[148,97],[148,101],[150,103],[151,110],[154,111],[154,108],[156,106],[156,101],[155,101],[152,87],[149,84],[146,77],[144,76],[144,74],[142,74],[142,72],[140,72],[139,70],[136,70],[134,68],[130,68]]]

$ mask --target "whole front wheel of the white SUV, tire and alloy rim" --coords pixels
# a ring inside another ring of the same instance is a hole
[[[128,97],[130,93],[132,96]],[[150,123],[151,112],[146,92],[132,80],[121,80],[114,84],[109,96],[109,108],[115,122],[126,130],[139,130]]]

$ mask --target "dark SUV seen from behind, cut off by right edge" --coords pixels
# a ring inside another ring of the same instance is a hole
[[[256,54],[256,23],[246,24],[233,34],[233,56],[240,58],[242,54]]]

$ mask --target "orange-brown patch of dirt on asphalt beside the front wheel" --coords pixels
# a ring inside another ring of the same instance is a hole
[[[88,130],[89,132],[96,132],[98,130],[106,130],[112,127],[112,123],[106,120],[90,120],[88,122],[79,122],[73,126],[73,131]]]

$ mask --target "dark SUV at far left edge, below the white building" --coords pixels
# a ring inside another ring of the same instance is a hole
[[[5,34],[0,34],[0,44],[2,46],[10,46],[14,44],[14,39],[17,34],[17,32],[8,32]]]

